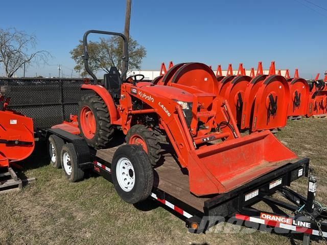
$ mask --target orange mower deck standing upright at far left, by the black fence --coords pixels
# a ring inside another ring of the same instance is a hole
[[[0,167],[8,167],[33,152],[33,120],[11,110],[0,111],[0,117]]]

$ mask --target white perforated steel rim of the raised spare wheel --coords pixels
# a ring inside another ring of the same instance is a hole
[[[118,160],[116,166],[116,177],[119,186],[126,192],[131,191],[135,184],[134,167],[130,160],[122,157]]]

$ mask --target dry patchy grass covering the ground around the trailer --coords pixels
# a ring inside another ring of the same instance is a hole
[[[322,203],[327,203],[326,135],[326,118],[289,121],[276,134],[300,157],[311,159]],[[68,183],[62,170],[48,165],[46,154],[41,148],[24,164],[23,174],[37,181],[0,195],[0,244],[301,244],[301,236],[225,223],[206,234],[190,234],[183,220],[154,201],[124,203],[102,177]],[[298,180],[292,188],[305,193],[307,182]]]

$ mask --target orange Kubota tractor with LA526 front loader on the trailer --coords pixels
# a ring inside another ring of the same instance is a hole
[[[88,66],[90,33],[124,40],[122,75],[111,67],[102,85]],[[107,148],[114,131],[122,130],[127,143],[141,145],[155,166],[161,154],[159,141],[166,138],[189,176],[190,191],[198,196],[228,192],[297,158],[269,130],[241,136],[207,65],[177,64],[144,82],[143,75],[126,78],[128,43],[123,34],[92,30],[85,33],[83,43],[85,68],[94,83],[85,83],[82,89],[93,92],[82,97],[78,123],[66,131],[80,133],[88,145]]]

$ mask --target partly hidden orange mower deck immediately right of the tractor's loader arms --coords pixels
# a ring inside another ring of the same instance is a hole
[[[228,101],[232,115],[237,121],[237,125],[241,126],[244,94],[252,78],[248,76],[230,76],[226,77],[226,80],[227,78],[231,78],[231,80],[228,79],[230,80],[229,82],[225,82],[224,84],[221,83],[220,96]]]

